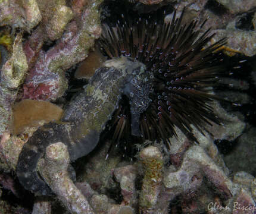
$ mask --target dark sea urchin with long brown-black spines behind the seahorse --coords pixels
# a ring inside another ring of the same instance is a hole
[[[176,11],[170,23],[158,24],[152,18],[132,20],[122,15],[115,27],[104,24],[99,40],[101,51],[108,58],[129,56],[146,65],[154,81],[149,97],[151,103],[139,119],[142,139],[164,140],[176,136],[179,128],[189,139],[196,141],[192,125],[204,133],[205,123],[220,123],[211,108],[217,97],[209,93],[223,71],[221,53],[217,51],[225,39],[207,46],[214,34],[210,29],[200,34],[197,21],[182,24]],[[114,141],[132,134],[129,105],[121,100],[110,127]]]

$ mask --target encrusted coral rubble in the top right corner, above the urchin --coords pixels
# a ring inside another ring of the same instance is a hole
[[[255,1],[236,1],[236,0],[213,0],[213,1],[180,1],[180,5],[188,8],[189,18],[195,18],[199,21],[208,19],[204,28],[211,27],[216,32],[214,39],[227,37],[227,47],[234,49],[246,56],[255,55],[255,27],[251,29],[253,21],[248,18],[251,23],[239,23],[243,17],[249,16],[255,9]],[[182,10],[183,7],[178,7],[177,10]],[[208,10],[204,10],[204,8]],[[246,12],[248,12],[246,14]]]

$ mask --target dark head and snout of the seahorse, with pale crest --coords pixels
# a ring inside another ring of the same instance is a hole
[[[105,62],[106,65],[123,70],[123,87],[120,90],[129,98],[132,135],[141,137],[139,119],[152,101],[150,93],[153,91],[153,74],[146,70],[142,62],[125,56],[111,59]]]

